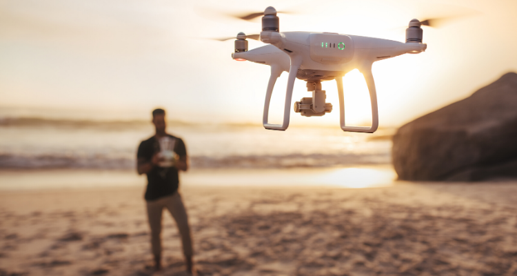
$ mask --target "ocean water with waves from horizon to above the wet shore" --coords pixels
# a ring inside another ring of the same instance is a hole
[[[170,121],[168,132],[185,141],[192,168],[278,169],[389,164],[394,130],[291,126],[280,132]],[[149,121],[4,118],[0,169],[132,169],[140,141],[152,135]]]

